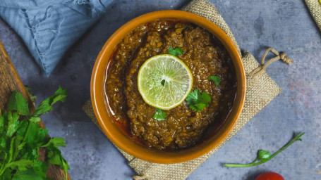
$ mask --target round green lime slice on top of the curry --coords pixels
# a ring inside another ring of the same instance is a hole
[[[138,72],[138,90],[144,101],[162,110],[181,104],[193,85],[193,75],[180,59],[170,54],[153,56]]]

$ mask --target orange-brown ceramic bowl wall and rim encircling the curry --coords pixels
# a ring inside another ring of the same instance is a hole
[[[217,37],[217,39],[222,42],[226,50],[229,52],[229,56],[233,60],[236,72],[236,98],[231,113],[226,118],[226,121],[221,127],[219,127],[216,134],[208,137],[204,142],[186,150],[166,152],[148,148],[147,146],[136,143],[117,126],[106,103],[104,81],[107,76],[106,70],[109,65],[111,53],[113,53],[116,45],[119,44],[126,34],[135,29],[135,27],[157,19],[185,20],[212,33],[214,37]],[[198,158],[201,155],[205,155],[213,148],[219,146],[219,144],[226,139],[236,124],[243,108],[246,97],[246,75],[241,62],[241,56],[238,53],[236,46],[234,46],[231,39],[219,27],[217,27],[217,25],[214,25],[212,22],[200,17],[199,15],[187,13],[185,11],[155,11],[141,15],[138,18],[129,21],[111,35],[102,47],[102,51],[100,51],[95,62],[95,66],[92,70],[90,88],[92,107],[95,111],[99,126],[102,131],[104,131],[104,134],[106,134],[116,146],[124,150],[126,153],[133,155],[135,158],[140,158],[149,162],[169,164],[185,162]]]

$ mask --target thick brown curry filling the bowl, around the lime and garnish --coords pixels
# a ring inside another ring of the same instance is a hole
[[[179,58],[193,75],[192,91],[210,95],[201,111],[186,101],[166,113],[166,120],[155,120],[156,110],[138,91],[138,71],[143,63],[159,54],[179,48]],[[219,84],[209,77],[220,78]],[[205,141],[214,127],[224,123],[236,95],[236,75],[231,58],[215,37],[192,23],[155,20],[140,25],[116,47],[107,68],[105,92],[114,120],[138,143],[159,150],[182,150]]]

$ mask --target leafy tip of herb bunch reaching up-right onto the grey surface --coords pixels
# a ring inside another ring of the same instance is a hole
[[[35,112],[32,114],[32,117],[39,117],[40,115],[52,110],[52,105],[58,101],[66,101],[67,93],[67,89],[61,89],[61,86],[59,86],[59,89],[54,93],[54,95],[46,98],[40,103]]]

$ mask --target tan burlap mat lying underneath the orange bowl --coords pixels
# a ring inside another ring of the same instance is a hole
[[[234,41],[238,48],[238,44],[234,39],[234,35],[232,34],[229,27],[226,25],[225,21],[223,20],[222,16],[219,15],[217,9],[214,7],[213,4],[205,0],[195,0],[190,2],[187,6],[183,8],[183,11],[189,11],[191,13],[195,13],[198,15],[202,15],[203,17],[211,20],[213,23],[218,25],[227,35]],[[239,51],[239,48],[238,48]],[[277,56],[279,56],[277,54]],[[231,131],[231,134],[226,138],[224,142],[222,142],[217,148],[214,148],[210,153],[203,155],[200,158],[195,160],[190,160],[188,162],[178,163],[178,164],[171,164],[171,165],[164,165],[164,164],[157,164],[152,162],[146,162],[144,160],[140,160],[138,158],[134,158],[128,153],[120,150],[120,152],[125,156],[128,160],[128,165],[133,167],[135,172],[137,172],[140,176],[135,176],[135,179],[153,179],[153,180],[162,180],[162,179],[186,179],[186,177],[193,172],[196,168],[198,168],[205,160],[210,158],[210,156],[215,153],[219,148],[224,146],[226,141],[229,141],[237,131],[239,131],[254,115],[256,115],[262,108],[264,108],[272,99],[277,96],[281,89],[275,82],[267,75],[266,72],[262,72],[255,77],[248,77],[250,72],[261,67],[257,60],[249,53],[245,52],[243,54],[243,65],[246,69],[247,74],[247,83],[248,89],[246,92],[246,102],[241,113],[241,116]],[[87,115],[90,116],[93,122],[97,124],[97,120],[95,118],[95,114],[92,110],[92,104],[90,101],[87,101],[83,106],[83,110]],[[98,125],[98,124],[97,124]],[[99,127],[99,125],[98,125]]]

